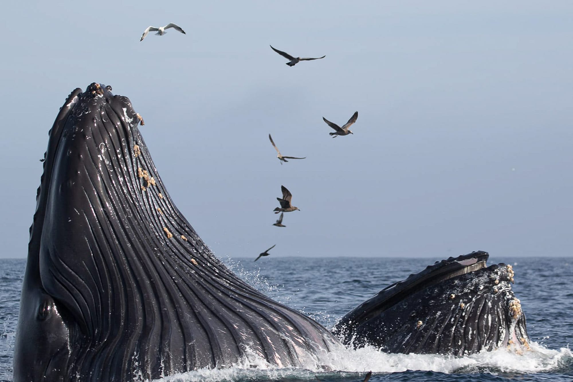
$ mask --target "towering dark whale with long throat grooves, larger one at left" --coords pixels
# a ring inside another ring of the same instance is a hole
[[[246,354],[301,367],[339,346],[211,254],[168,195],[139,120],[128,98],[93,83],[50,130],[14,381],[156,379]]]

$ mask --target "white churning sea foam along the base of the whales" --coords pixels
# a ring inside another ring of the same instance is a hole
[[[365,372],[393,373],[434,371],[442,373],[531,373],[547,372],[563,367],[573,360],[568,348],[551,350],[536,342],[531,351],[519,355],[505,349],[482,352],[472,356],[456,357],[437,354],[388,354],[374,348],[349,350],[341,348],[318,356],[310,355],[304,368],[277,368],[260,356],[247,352],[245,356],[225,369],[200,369],[160,379],[161,382],[237,381],[268,379],[315,379],[315,377],[363,375]],[[324,365],[331,371],[325,372]]]

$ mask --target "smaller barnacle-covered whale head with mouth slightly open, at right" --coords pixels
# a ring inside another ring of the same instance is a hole
[[[348,312],[335,332],[346,345],[391,353],[466,355],[529,349],[525,315],[511,289],[513,269],[486,266],[477,251],[436,262]]]

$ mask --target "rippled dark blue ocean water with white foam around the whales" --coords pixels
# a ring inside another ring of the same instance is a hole
[[[441,259],[224,259],[246,282],[327,328],[388,284]],[[512,264],[513,290],[527,317],[532,351],[494,350],[469,357],[387,354],[374,348],[331,354],[333,372],[245,368],[199,370],[165,377],[190,381],[573,381],[573,258],[490,258]],[[0,259],[0,381],[12,381],[14,336],[24,259]]]

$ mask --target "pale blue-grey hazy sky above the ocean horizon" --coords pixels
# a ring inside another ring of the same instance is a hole
[[[131,99],[171,197],[219,256],[571,256],[573,2],[8,2],[2,15],[0,257],[26,256],[48,130],[93,81]],[[139,42],[168,22],[187,34]],[[269,44],[326,58],[291,68]],[[331,139],[322,117],[356,110],[355,134]],[[281,166],[269,132],[307,159]],[[281,185],[301,209],[286,228],[271,225]]]

